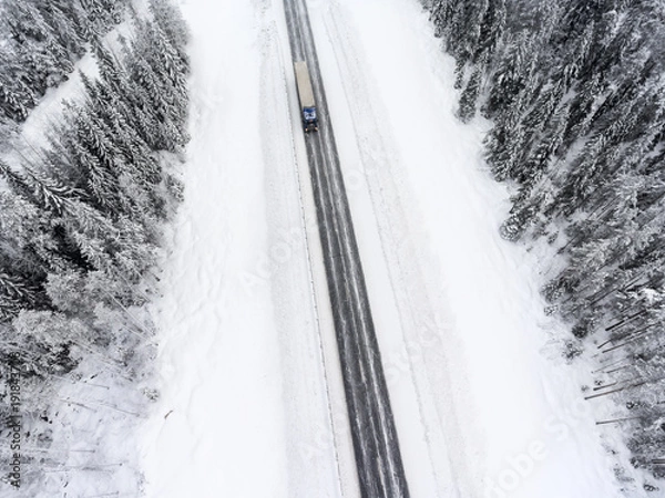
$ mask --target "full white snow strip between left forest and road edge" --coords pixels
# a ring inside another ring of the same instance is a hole
[[[183,12],[193,139],[158,303],[146,491],[337,497],[282,2],[191,0]]]

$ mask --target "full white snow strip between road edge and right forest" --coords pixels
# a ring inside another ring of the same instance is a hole
[[[410,0],[309,7],[391,396],[415,384],[431,437],[409,461],[405,438],[422,429],[396,407],[407,471],[433,466],[439,496],[618,496],[586,373],[552,346],[567,332],[542,311],[535,257],[498,235],[508,193],[480,157],[487,125],[454,118],[453,64],[427,14]]]

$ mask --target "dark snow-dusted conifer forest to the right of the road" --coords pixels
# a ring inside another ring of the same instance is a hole
[[[458,117],[492,123],[485,158],[514,193],[508,240],[549,245],[548,311],[597,360],[632,463],[665,477],[665,6],[432,0]],[[620,473],[621,470],[617,470]]]

